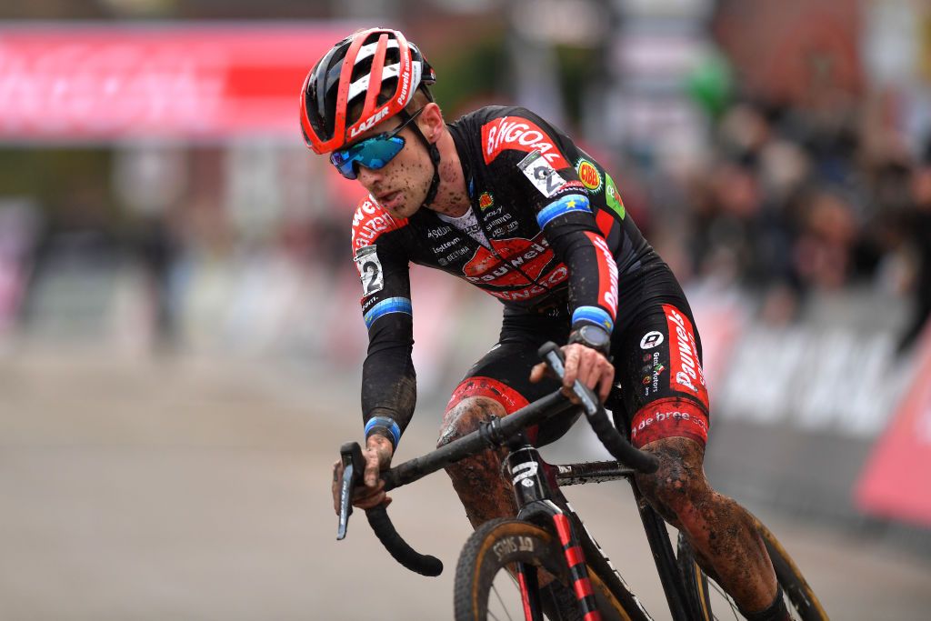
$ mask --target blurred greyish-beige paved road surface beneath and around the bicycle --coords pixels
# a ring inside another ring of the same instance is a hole
[[[450,618],[469,531],[444,475],[391,507],[444,560],[439,578],[394,564],[360,514],[334,540],[329,465],[358,436],[356,374],[92,352],[0,360],[0,619]],[[437,425],[421,412],[400,457]],[[648,607],[662,605],[623,484],[570,498]],[[762,517],[834,618],[928,618],[931,560]]]

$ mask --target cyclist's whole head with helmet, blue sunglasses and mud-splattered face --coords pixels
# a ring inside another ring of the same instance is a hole
[[[304,80],[304,139],[315,153],[330,153],[343,176],[358,179],[389,213],[408,217],[439,187],[437,135],[428,139],[417,118],[441,121],[428,89],[435,81],[420,49],[398,31],[352,34]]]

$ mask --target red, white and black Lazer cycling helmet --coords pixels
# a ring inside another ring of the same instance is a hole
[[[307,146],[330,153],[397,115],[414,91],[437,76],[417,46],[397,30],[370,28],[337,43],[317,61],[301,89]]]

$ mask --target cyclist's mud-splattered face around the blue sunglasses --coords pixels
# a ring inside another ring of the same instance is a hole
[[[364,140],[399,125],[400,119],[388,119],[362,134],[361,138]],[[398,136],[406,142],[400,153],[381,169],[359,166],[358,182],[393,218],[410,218],[424,203],[433,180],[433,164],[412,128],[402,129]]]

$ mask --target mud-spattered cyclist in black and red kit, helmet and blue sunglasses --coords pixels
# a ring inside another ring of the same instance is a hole
[[[444,122],[436,74],[395,30],[359,31],[331,48],[302,90],[304,138],[369,196],[352,250],[369,353],[362,371],[367,466],[356,506],[387,504],[390,465],[416,399],[409,263],[465,278],[504,304],[500,338],[452,392],[439,444],[551,392],[537,347],[562,344],[563,390],[578,378],[632,414],[635,446],[660,460],[638,477],[651,504],[686,533],[709,574],[750,619],[787,617],[776,576],[746,511],[714,492],[702,461],[708,390],[689,305],[641,236],[611,176],[543,118],[491,106]],[[614,359],[614,365],[611,360]],[[534,430],[546,444],[573,424]],[[447,472],[473,526],[511,517],[501,455]],[[342,468],[333,466],[338,507]],[[337,508],[338,511],[338,508]]]

